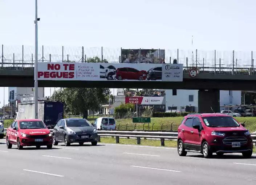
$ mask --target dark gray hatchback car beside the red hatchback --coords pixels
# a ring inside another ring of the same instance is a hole
[[[91,142],[96,146],[97,139],[97,130],[86,119],[61,119],[53,129],[53,145],[60,142],[64,142],[65,146],[71,143],[83,145],[85,142]]]

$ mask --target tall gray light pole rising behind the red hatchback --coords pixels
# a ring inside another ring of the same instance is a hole
[[[35,55],[36,55],[36,59],[34,62],[34,118],[38,119],[38,82],[37,82],[37,71],[38,71],[38,37],[37,37],[37,0],[36,1],[36,19],[34,21],[35,24]],[[40,19],[39,19],[40,20]]]

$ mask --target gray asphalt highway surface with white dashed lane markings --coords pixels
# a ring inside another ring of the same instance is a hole
[[[72,144],[7,149],[0,139],[0,184],[25,185],[255,185],[256,155],[204,159],[176,148]]]

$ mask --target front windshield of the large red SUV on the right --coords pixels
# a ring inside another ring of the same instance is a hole
[[[210,117],[202,117],[204,123],[208,127],[239,127],[239,123],[228,116],[210,116]]]

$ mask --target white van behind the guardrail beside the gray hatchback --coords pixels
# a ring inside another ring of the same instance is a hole
[[[113,117],[97,118],[92,124],[97,130],[115,130],[115,119]]]

